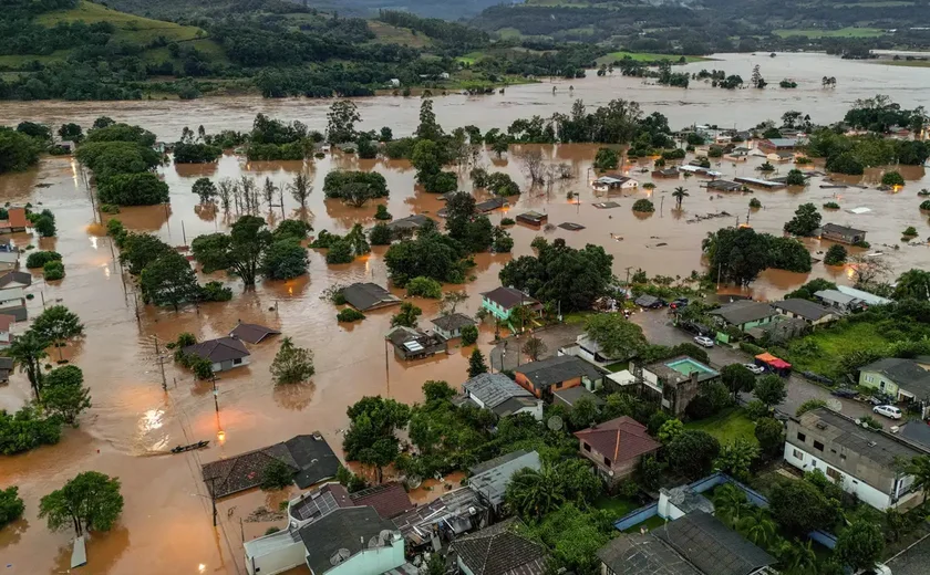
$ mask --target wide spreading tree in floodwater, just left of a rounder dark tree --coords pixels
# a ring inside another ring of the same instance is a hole
[[[194,239],[190,248],[204,273],[226,270],[241,278],[246,288],[251,288],[255,286],[261,255],[271,239],[271,232],[262,218],[242,216],[232,224],[229,234],[199,236]]]

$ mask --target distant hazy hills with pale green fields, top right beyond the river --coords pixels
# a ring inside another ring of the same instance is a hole
[[[706,54],[734,50],[930,46],[930,0],[526,0],[472,20],[506,38]],[[838,51],[846,50],[846,48]]]

